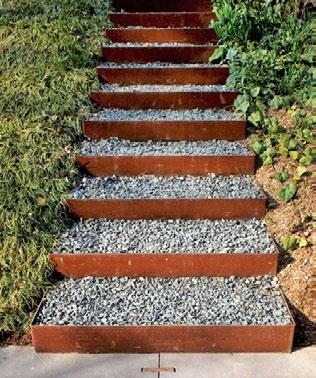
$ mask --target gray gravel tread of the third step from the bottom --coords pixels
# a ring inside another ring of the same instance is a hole
[[[262,198],[262,193],[250,176],[145,175],[84,177],[72,198]]]

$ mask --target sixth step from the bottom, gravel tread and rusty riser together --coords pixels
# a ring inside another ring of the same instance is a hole
[[[91,99],[119,109],[230,109],[238,92],[224,85],[103,85]]]

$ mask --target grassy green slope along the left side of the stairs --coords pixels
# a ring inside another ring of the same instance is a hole
[[[0,333],[25,330],[49,285],[61,198],[91,111],[107,0],[0,1]]]

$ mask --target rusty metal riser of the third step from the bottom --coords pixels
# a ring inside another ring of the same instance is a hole
[[[69,199],[65,204],[83,219],[260,219],[266,212],[266,198]]]

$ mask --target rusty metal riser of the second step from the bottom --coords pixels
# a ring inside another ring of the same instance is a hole
[[[278,253],[52,253],[65,277],[251,277],[276,275]]]

